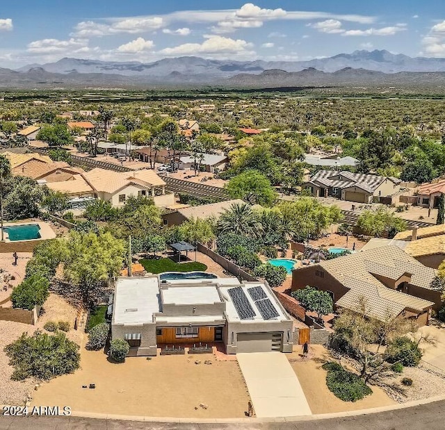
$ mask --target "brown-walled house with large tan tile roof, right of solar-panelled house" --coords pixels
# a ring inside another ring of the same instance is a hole
[[[369,317],[405,317],[428,324],[430,309],[442,306],[433,288],[437,272],[396,246],[385,246],[293,270],[292,290],[327,291],[335,306],[357,310],[363,298]]]

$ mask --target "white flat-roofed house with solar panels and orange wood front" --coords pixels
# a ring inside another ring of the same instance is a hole
[[[221,342],[227,354],[292,352],[293,321],[267,283],[119,278],[111,338],[127,340],[129,356],[200,342]]]

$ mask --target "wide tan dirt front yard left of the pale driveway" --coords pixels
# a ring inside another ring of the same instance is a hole
[[[200,360],[200,364],[195,364]],[[211,365],[204,364],[211,360]],[[96,388],[82,388],[95,383]],[[152,417],[245,417],[250,399],[236,361],[214,356],[131,357],[122,364],[103,352],[81,352],[81,370],[44,383],[32,405],[72,411]],[[207,406],[203,408],[200,405]]]

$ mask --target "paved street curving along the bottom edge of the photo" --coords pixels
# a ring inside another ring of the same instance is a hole
[[[328,420],[242,424],[176,424],[171,422],[136,422],[95,420],[80,417],[0,417],[0,430],[410,430],[444,429],[445,401],[401,408],[394,411],[331,418]]]

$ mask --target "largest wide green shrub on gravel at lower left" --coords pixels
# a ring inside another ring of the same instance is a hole
[[[49,335],[35,331],[33,336],[23,333],[5,347],[9,364],[15,367],[11,379],[16,381],[34,377],[51,379],[79,369],[79,345],[67,339],[65,333]]]

